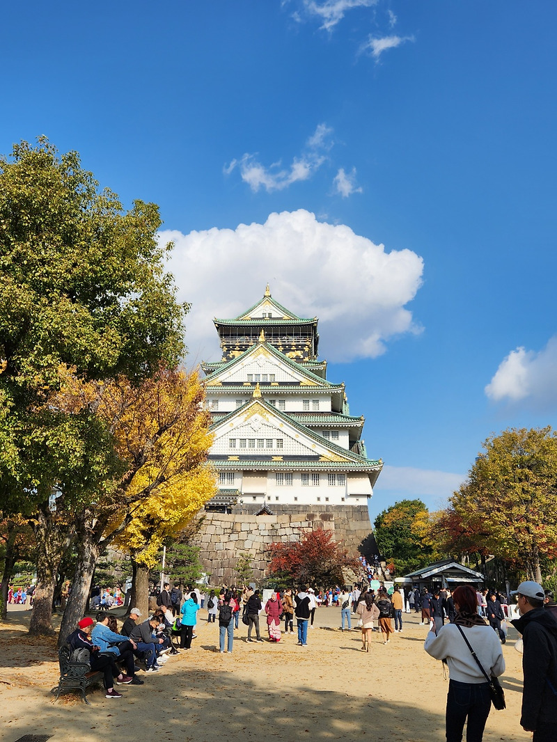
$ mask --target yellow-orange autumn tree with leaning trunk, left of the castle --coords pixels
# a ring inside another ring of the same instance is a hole
[[[85,389],[68,381],[68,404],[93,404],[126,463],[94,505],[76,513],[79,559],[59,641],[79,620],[99,554],[114,545],[131,556],[131,600],[147,609],[149,569],[166,540],[194,519],[215,493],[206,462],[212,442],[198,374],[160,368],[138,387],[120,378]]]

